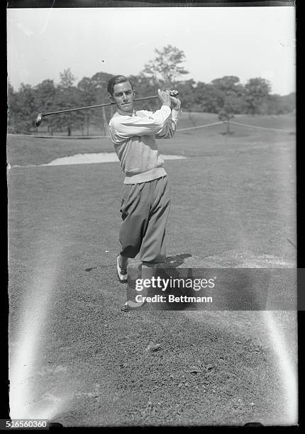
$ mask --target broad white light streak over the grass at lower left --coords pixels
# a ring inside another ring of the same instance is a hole
[[[67,404],[68,396],[37,396],[35,390],[38,382],[41,382],[37,367],[42,362],[43,349],[47,345],[44,333],[50,318],[52,292],[62,257],[61,246],[50,243],[49,247],[48,254],[44,251],[39,255],[38,252],[33,270],[33,286],[23,288],[27,297],[22,307],[23,314],[18,318],[19,330],[13,338],[10,337],[13,341],[9,360],[9,405],[12,419],[52,419]]]

